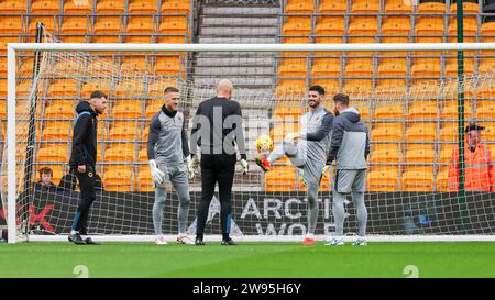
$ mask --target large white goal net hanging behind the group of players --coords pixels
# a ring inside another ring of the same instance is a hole
[[[287,133],[305,132],[299,120],[309,111],[307,90],[320,85],[326,89],[322,105],[333,111],[332,97],[349,95],[351,107],[359,110],[370,131],[365,203],[371,238],[493,237],[493,51],[465,52],[465,75],[458,82],[455,51],[227,53],[209,52],[208,45],[196,52],[154,51],[153,46],[139,52],[118,44],[114,51],[105,52],[84,46],[78,51],[40,51],[37,73],[33,70],[34,52],[16,51],[15,144],[7,138],[6,119],[0,121],[4,141],[0,219],[15,218],[18,238],[65,241],[69,233],[79,199],[78,184],[68,167],[75,107],[94,90],[109,95],[109,108],[98,121],[97,174],[101,186],[90,211],[89,233],[122,241],[152,238],[154,186],[146,155],[150,120],[160,112],[164,89],[170,86],[179,89],[180,107],[187,121],[191,120],[198,104],[216,95],[215,85],[221,78],[234,84],[233,100],[242,107],[250,164],[246,175],[237,166],[232,236],[299,241],[306,234],[307,199],[300,173],[287,157],[263,173],[254,163],[258,156],[254,141],[268,134],[276,146]],[[212,68],[221,69],[221,76],[208,78]],[[2,88],[7,90],[6,82]],[[463,107],[459,105],[460,91]],[[7,102],[1,100],[0,107],[6,108]],[[484,127],[480,135],[466,133],[464,143],[459,141],[460,111],[464,112],[463,129],[471,122]],[[189,123],[187,133],[189,136]],[[458,163],[461,144],[465,147],[463,169]],[[15,195],[10,198],[9,147],[15,147],[16,176]],[[55,186],[41,184],[45,167],[53,171]],[[333,166],[321,179],[316,230],[320,240],[334,232],[334,173]],[[460,190],[460,181],[464,189]],[[190,181],[187,226],[193,236],[200,187],[199,175]],[[14,199],[15,211],[7,211],[8,199]],[[177,233],[177,207],[176,192],[169,186],[164,233],[170,238]],[[351,197],[345,202],[344,232],[356,233]],[[216,193],[206,240],[220,233]]]

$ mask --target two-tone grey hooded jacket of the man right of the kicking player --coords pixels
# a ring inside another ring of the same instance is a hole
[[[370,135],[354,108],[344,110],[333,121],[328,160],[337,159],[337,169],[366,169]]]

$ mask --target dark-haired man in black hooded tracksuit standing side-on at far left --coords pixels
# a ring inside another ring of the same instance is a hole
[[[89,237],[82,240],[81,235],[88,233],[89,209],[96,199],[97,116],[106,109],[107,95],[99,90],[91,93],[89,101],[81,101],[76,107],[77,119],[74,122],[69,166],[70,171],[75,173],[79,180],[80,200],[68,240],[78,245],[95,244]]]

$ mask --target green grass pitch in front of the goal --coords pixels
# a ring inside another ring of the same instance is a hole
[[[206,246],[152,243],[0,245],[0,277],[397,277],[414,265],[419,277],[495,277],[495,243],[369,243],[356,247],[299,243]]]

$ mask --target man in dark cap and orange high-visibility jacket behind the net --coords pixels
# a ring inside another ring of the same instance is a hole
[[[485,127],[470,123],[465,127],[464,189],[469,191],[495,191],[495,162],[490,149],[482,144],[480,131]],[[452,151],[449,165],[449,191],[459,189],[459,149]]]

